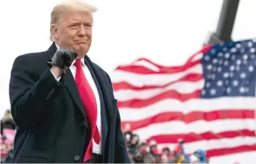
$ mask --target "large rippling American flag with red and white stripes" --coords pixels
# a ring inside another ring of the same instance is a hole
[[[174,149],[183,138],[207,157],[256,151],[256,40],[206,46],[180,66],[141,58],[111,78],[122,126],[142,140]]]

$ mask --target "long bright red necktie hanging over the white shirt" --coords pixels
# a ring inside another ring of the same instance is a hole
[[[79,95],[82,100],[82,105],[85,110],[85,114],[88,117],[88,122],[90,125],[90,142],[88,144],[88,148],[85,151],[85,157],[83,162],[90,160],[93,155],[93,139],[95,143],[99,144],[101,140],[101,136],[99,135],[99,129],[96,126],[97,121],[97,104],[96,99],[93,93],[92,88],[90,88],[90,84],[85,77],[84,71],[82,71],[82,61],[77,60],[74,65],[77,67],[75,80],[77,83],[77,88],[79,90]]]

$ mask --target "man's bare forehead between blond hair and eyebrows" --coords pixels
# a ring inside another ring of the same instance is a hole
[[[92,15],[86,11],[66,11],[62,14],[62,21],[70,23],[92,23]]]

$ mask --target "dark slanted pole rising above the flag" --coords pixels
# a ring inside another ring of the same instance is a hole
[[[223,0],[216,32],[210,34],[210,38],[207,40],[205,45],[232,40],[231,35],[235,24],[238,5],[239,0]]]

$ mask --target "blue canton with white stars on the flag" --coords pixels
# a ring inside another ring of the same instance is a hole
[[[202,98],[255,96],[256,40],[214,45],[202,57]]]

